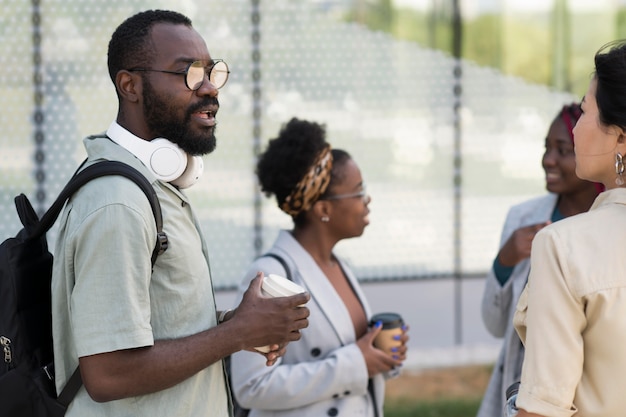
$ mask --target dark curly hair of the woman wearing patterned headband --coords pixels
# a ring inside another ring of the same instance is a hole
[[[256,175],[261,191],[268,197],[275,195],[280,206],[327,145],[324,125],[292,118],[280,129],[278,137],[270,139],[267,149],[259,156]],[[341,167],[350,159],[350,155],[340,149],[332,149],[332,156],[330,184],[324,195],[328,195],[333,184],[341,179]],[[294,220],[298,223],[302,217],[297,216]]]

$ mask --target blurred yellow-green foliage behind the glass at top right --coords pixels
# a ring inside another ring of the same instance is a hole
[[[452,2],[433,3],[429,11],[394,8],[390,0],[353,4],[348,21],[451,53]],[[533,83],[582,95],[596,50],[610,40],[626,38],[626,8],[616,5],[614,12],[572,12],[567,6],[567,1],[555,0],[553,10],[547,13],[466,17],[462,22],[463,57]],[[557,55],[565,61],[555,59]]]

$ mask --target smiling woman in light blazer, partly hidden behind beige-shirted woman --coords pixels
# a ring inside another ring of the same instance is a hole
[[[500,417],[507,387],[519,380],[524,347],[512,317],[528,279],[535,234],[550,223],[587,211],[601,189],[576,176],[572,129],[580,116],[578,104],[561,108],[548,130],[541,159],[548,194],[512,207],[506,218],[482,300],[485,326],[493,336],[504,338],[504,343],[478,417]]]

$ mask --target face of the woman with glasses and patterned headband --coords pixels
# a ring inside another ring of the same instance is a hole
[[[331,204],[329,224],[337,240],[361,236],[369,224],[368,205],[372,200],[365,192],[361,170],[347,159],[341,167],[339,180],[330,184],[327,201]]]

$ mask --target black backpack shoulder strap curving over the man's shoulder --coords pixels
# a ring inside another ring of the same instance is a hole
[[[141,175],[135,168],[119,161],[103,161],[90,165],[84,170],[74,175],[70,181],[65,185],[57,199],[52,203],[50,208],[41,217],[41,221],[29,231],[29,239],[37,239],[43,236],[54,224],[57,217],[61,213],[63,206],[68,198],[70,198],[80,187],[88,183],[89,181],[102,177],[105,175],[121,175],[132,180],[143,191],[148,198],[150,206],[152,207],[152,214],[156,222],[157,228],[157,242],[152,252],[152,264],[156,262],[156,258],[167,249],[167,236],[163,233],[163,215],[161,213],[161,205],[159,199],[152,188],[152,185],[146,177]],[[22,195],[16,197],[16,205],[23,204],[21,199]],[[25,196],[23,198],[26,198]],[[21,202],[18,202],[18,199]],[[19,211],[19,209],[18,209]]]

